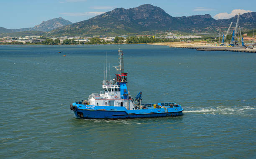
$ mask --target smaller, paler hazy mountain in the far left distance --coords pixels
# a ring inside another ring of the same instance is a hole
[[[27,27],[21,29],[6,29],[4,27],[0,27],[0,34],[1,33],[12,33],[12,32],[24,32],[24,31],[42,31],[42,32],[49,32],[51,30],[57,29],[59,27],[63,27],[65,25],[73,24],[69,20],[65,20],[62,17],[54,18],[51,20],[43,21],[41,24],[36,25],[34,27]]]

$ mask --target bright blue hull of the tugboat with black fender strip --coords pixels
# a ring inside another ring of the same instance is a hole
[[[86,106],[84,106],[86,107]],[[82,106],[78,106],[78,109],[74,110],[77,117],[83,119],[131,119],[131,118],[150,118],[150,117],[176,117],[182,115],[183,109],[177,108],[159,108],[159,109],[141,109],[141,110],[127,110],[125,107],[93,107],[84,109]],[[105,108],[100,109],[99,108]],[[113,109],[115,108],[115,109]]]

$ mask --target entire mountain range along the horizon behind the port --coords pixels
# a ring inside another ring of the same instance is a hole
[[[112,11],[74,24],[59,17],[55,18],[57,20],[53,19],[51,22],[48,22],[48,20],[30,29],[46,31],[47,35],[51,36],[115,36],[122,34],[153,34],[165,31],[209,33],[219,32],[220,30],[220,32],[225,32],[230,22],[233,22],[232,27],[235,27],[237,16],[224,20],[215,20],[209,14],[172,17],[160,7],[145,4],[129,9],[115,8]],[[58,20],[65,23],[57,23]],[[240,15],[239,26],[241,26],[242,31],[255,28],[256,12],[248,12]],[[0,28],[0,33],[1,30],[5,32],[17,31]],[[24,30],[20,29],[20,31]]]

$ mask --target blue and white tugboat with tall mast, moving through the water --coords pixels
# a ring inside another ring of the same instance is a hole
[[[120,49],[118,56],[119,66],[116,66],[115,69],[119,74],[115,74],[115,79],[108,79],[104,69],[103,91],[91,94],[88,100],[70,104],[70,109],[74,111],[76,117],[129,119],[182,115],[182,107],[174,102],[142,104],[142,92],[139,92],[135,98],[131,97],[127,88],[128,73],[124,72],[123,67],[123,51]]]

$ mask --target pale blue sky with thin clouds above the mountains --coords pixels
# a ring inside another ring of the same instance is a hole
[[[214,17],[221,13],[218,18],[225,18],[237,9],[256,11],[255,0],[0,0],[0,27],[33,27],[55,17],[79,22],[115,7],[128,9],[143,4],[161,7],[174,17],[207,13]]]

